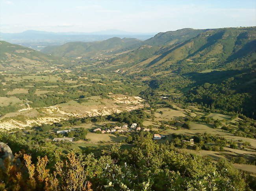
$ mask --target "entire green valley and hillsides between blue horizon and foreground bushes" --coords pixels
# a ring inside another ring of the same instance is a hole
[[[128,157],[136,172],[141,164],[158,171],[161,157],[178,156],[195,166],[225,163],[252,178],[255,64],[255,27],[180,29],[41,51],[1,41],[0,139],[13,153],[46,153],[53,163],[74,152],[121,165]]]

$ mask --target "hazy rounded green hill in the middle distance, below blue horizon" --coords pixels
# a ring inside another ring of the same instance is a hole
[[[142,41],[136,38],[114,37],[97,42],[69,42],[61,46],[45,47],[41,52],[64,57],[93,57],[126,51],[141,44]]]

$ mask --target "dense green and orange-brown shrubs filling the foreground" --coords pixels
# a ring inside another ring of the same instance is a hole
[[[98,157],[70,151],[53,166],[47,156],[32,162],[28,154],[0,172],[5,191],[244,191],[251,190],[246,175],[226,160],[217,164],[184,155],[142,138],[129,150],[114,145]]]

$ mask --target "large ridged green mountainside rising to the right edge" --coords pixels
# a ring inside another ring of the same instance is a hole
[[[140,47],[115,58],[111,63],[119,64],[119,68],[115,66],[114,69],[122,73],[140,73],[144,76],[160,71],[184,74],[206,69],[243,68],[256,59],[255,27],[185,31],[191,35],[180,37],[178,31],[174,31],[176,44],[172,33],[158,34],[144,42],[156,44],[157,48],[144,45],[144,50]],[[180,33],[184,34],[184,31],[180,30]]]

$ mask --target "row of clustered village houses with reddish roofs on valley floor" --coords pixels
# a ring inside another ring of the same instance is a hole
[[[128,128],[128,125],[123,125],[122,127],[119,126],[115,126],[111,129],[100,129],[100,128],[96,128],[93,129],[93,131],[96,133],[97,131],[100,131],[102,134],[104,133],[114,133],[114,132],[118,132],[118,133],[123,133],[123,132],[128,132],[128,131],[132,131],[136,129],[136,131],[149,131],[149,129],[146,128],[141,128],[141,127],[137,127],[137,124],[133,123],[130,128]]]

